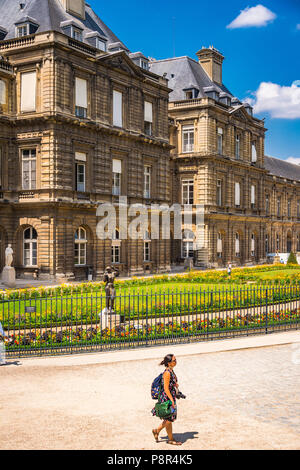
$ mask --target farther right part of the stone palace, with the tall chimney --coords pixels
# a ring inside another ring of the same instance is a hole
[[[172,200],[203,207],[203,223],[184,225],[173,262],[205,267],[264,263],[300,251],[300,167],[265,156],[265,126],[222,80],[224,57],[152,60],[169,80]],[[195,207],[193,209],[195,212]]]

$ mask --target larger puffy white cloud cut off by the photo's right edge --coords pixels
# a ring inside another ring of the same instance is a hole
[[[247,101],[254,107],[254,113],[267,112],[272,118],[300,119],[300,80],[291,86],[262,82]]]

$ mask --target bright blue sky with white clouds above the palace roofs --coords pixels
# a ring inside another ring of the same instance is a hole
[[[266,118],[266,154],[300,163],[300,0],[88,1],[132,52],[196,58],[202,46],[219,49],[225,85]]]

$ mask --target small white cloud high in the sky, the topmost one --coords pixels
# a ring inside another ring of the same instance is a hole
[[[271,21],[275,20],[277,16],[271,10],[263,5],[257,5],[252,8],[245,8],[239,16],[230,23],[227,28],[248,28],[251,26],[266,26]]]

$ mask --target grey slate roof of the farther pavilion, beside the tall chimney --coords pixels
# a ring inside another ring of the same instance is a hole
[[[213,82],[204,71],[198,61],[190,57],[175,57],[150,62],[150,70],[157,75],[169,80],[169,87],[173,90],[170,93],[170,101],[180,101],[186,99],[184,90],[196,88],[199,90],[198,98],[206,96],[204,88],[213,87],[217,92],[227,93],[233,97],[232,93],[224,86]]]

